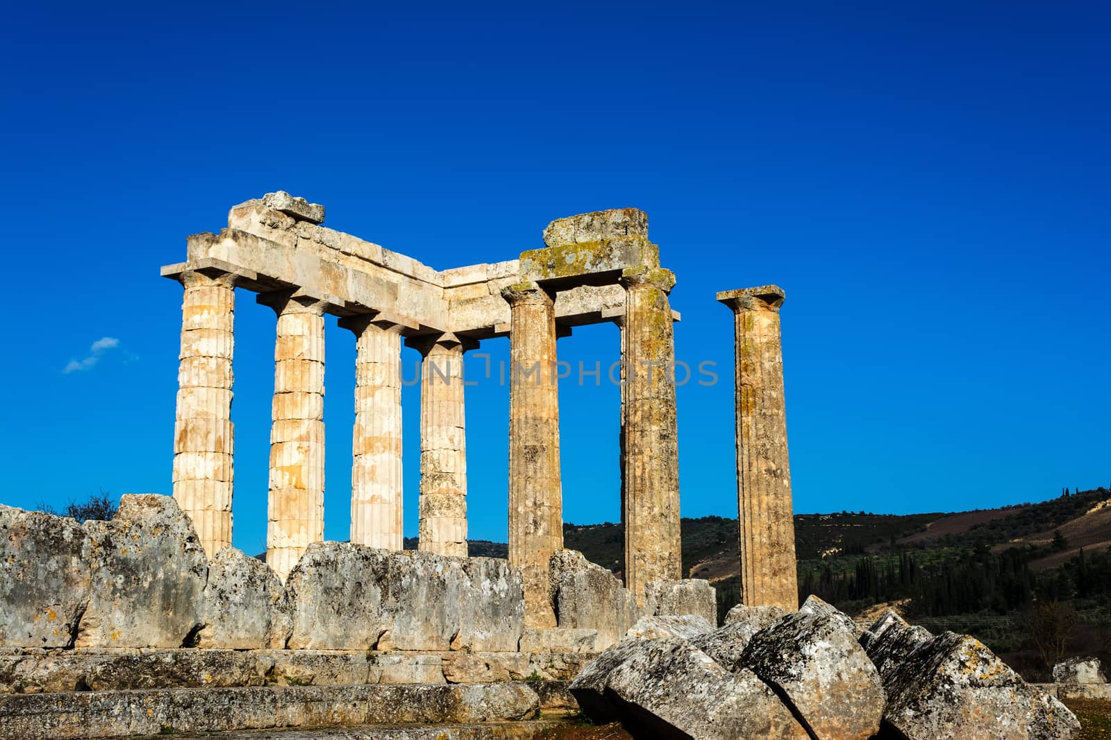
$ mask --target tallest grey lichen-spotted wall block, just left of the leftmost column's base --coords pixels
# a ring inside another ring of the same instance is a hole
[[[203,621],[204,550],[177,501],[129,495],[111,521],[86,521],[89,606],[79,648],[177,648]]]

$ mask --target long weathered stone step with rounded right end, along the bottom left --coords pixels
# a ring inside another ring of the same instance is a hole
[[[540,707],[537,691],[524,681],[8,695],[0,697],[0,740],[183,736],[374,724],[403,729],[407,723],[467,726],[536,719]],[[464,733],[458,737],[520,736]]]

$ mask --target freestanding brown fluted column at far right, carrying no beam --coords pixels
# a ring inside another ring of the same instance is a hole
[[[775,285],[718,293],[734,320],[741,600],[794,611],[799,587],[779,327],[783,297]]]

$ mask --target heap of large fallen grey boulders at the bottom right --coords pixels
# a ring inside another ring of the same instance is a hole
[[[732,614],[688,639],[630,633],[571,692],[595,722],[645,737],[1067,740],[1079,730],[973,638],[934,638],[889,612],[858,640],[852,620],[815,597],[762,627],[774,611]]]

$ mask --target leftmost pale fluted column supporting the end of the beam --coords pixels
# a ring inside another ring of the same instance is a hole
[[[211,558],[231,545],[234,275],[184,272],[173,498]]]

